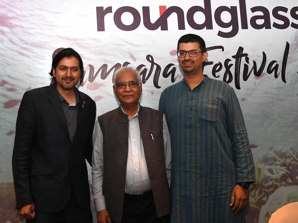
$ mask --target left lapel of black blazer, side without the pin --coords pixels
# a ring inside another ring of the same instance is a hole
[[[49,86],[48,95],[49,95],[49,101],[51,102],[57,116],[59,117],[59,120],[60,120],[60,122],[65,130],[65,133],[70,141],[66,118],[65,118],[65,114],[62,109],[62,105],[61,105],[61,101],[60,101],[57,89],[56,89],[56,84],[52,84]]]

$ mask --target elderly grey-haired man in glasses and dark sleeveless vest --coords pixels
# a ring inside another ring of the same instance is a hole
[[[169,222],[171,148],[165,116],[139,105],[137,71],[117,70],[113,84],[121,105],[99,116],[93,133],[97,221]]]

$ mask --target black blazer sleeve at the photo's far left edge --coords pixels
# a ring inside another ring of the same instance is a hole
[[[34,101],[30,92],[25,92],[18,110],[12,158],[17,209],[33,203],[29,183],[29,159],[34,146],[35,128]]]

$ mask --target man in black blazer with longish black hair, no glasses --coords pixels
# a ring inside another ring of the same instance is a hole
[[[83,62],[72,48],[52,62],[55,83],[25,92],[13,148],[16,208],[27,222],[91,222],[86,161],[91,164],[96,104],[75,85]]]

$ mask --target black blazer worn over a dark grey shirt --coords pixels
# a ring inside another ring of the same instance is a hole
[[[82,92],[79,97],[72,143],[56,84],[25,92],[12,159],[16,208],[34,203],[38,211],[62,211],[71,188],[80,208],[90,208],[85,158],[91,164],[96,104]]]

